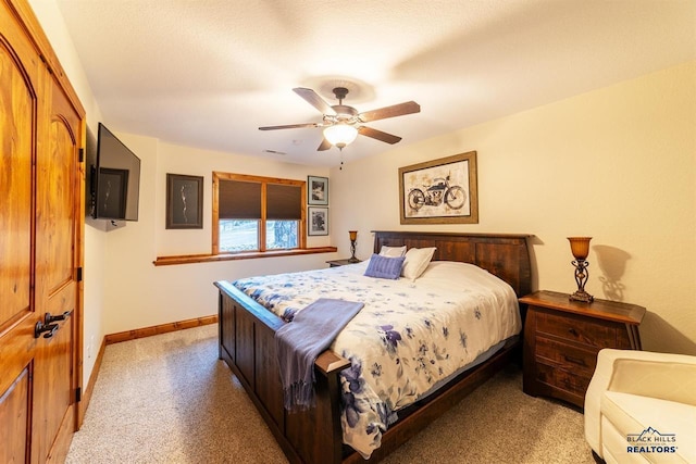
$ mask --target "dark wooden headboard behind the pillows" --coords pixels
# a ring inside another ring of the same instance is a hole
[[[436,247],[433,261],[472,263],[510,284],[518,297],[532,292],[532,265],[523,234],[458,234],[373,230],[374,252],[382,246]]]

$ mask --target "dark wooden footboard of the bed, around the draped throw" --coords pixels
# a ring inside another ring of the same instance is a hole
[[[343,434],[338,373],[350,362],[332,351],[315,363],[316,406],[288,413],[275,352],[275,330],[284,323],[227,281],[220,289],[220,359],[235,373],[290,462],[339,463]]]

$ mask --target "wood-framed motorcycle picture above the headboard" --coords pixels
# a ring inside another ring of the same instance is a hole
[[[478,224],[476,152],[399,167],[401,224]]]

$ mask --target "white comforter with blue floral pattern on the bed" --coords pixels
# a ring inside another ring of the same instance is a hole
[[[363,276],[368,263],[233,284],[285,321],[318,298],[364,303],[332,350],[340,373],[344,442],[365,459],[398,411],[521,330],[512,288],[472,264],[432,262],[415,280]]]

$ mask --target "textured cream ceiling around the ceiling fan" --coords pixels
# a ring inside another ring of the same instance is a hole
[[[57,0],[103,122],[163,141],[313,165],[293,92],[336,84],[399,146],[696,59],[694,0]],[[359,136],[346,162],[389,145]],[[268,153],[272,150],[278,153]]]

